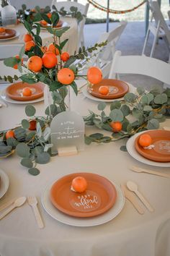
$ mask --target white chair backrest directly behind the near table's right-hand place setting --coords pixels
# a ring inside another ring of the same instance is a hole
[[[121,56],[121,51],[116,51],[109,78],[115,79],[119,74],[142,74],[170,85],[170,65],[147,56]]]

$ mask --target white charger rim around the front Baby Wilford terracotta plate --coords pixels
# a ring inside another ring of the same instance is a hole
[[[115,184],[115,182],[112,182],[117,191],[117,200],[115,202],[115,205],[111,209],[109,209],[106,213],[96,217],[71,217],[62,213],[60,210],[55,208],[53,204],[50,202],[50,188],[52,187],[53,183],[54,182],[48,185],[48,187],[45,188],[44,192],[42,192],[43,208],[52,218],[55,218],[55,220],[70,226],[98,226],[107,223],[108,221],[111,221],[113,218],[115,218],[121,212],[125,204],[125,196],[122,192],[122,189],[117,184]]]

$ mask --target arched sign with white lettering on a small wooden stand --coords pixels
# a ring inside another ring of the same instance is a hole
[[[74,155],[84,150],[84,119],[74,111],[55,116],[50,124],[52,154]]]

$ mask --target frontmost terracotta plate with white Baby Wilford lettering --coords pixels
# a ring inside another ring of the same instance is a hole
[[[71,182],[76,176],[83,176],[87,181],[83,193],[71,190]],[[50,201],[55,208],[73,217],[99,216],[112,208],[116,198],[115,186],[98,174],[69,174],[58,179],[50,189]]]

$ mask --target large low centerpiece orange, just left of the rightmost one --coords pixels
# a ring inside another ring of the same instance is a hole
[[[58,82],[61,82],[63,85],[70,85],[73,82],[75,75],[73,70],[64,67],[63,69],[58,71]]]

